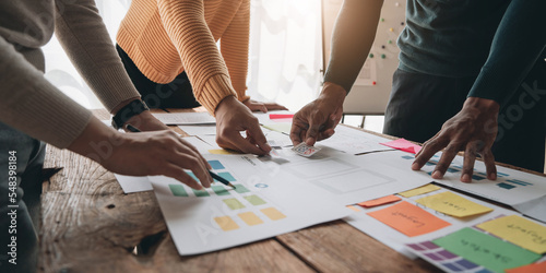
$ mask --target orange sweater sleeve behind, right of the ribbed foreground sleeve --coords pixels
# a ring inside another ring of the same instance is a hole
[[[221,51],[229,71],[232,84],[240,102],[250,97],[247,92],[248,46],[250,34],[250,1],[244,0],[221,38]]]

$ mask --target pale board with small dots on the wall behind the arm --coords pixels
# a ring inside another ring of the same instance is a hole
[[[322,71],[330,61],[332,31],[342,3],[343,0],[322,0]],[[384,0],[371,55],[345,98],[344,114],[384,114],[392,88],[392,74],[399,67],[396,38],[405,26],[405,7],[402,0]]]

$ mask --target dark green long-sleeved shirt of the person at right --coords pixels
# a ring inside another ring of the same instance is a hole
[[[377,3],[381,0],[344,1],[324,81],[351,90],[373,40],[367,26],[378,16]],[[400,68],[477,75],[468,96],[502,105],[545,58],[545,14],[546,0],[407,0],[406,26],[397,41]]]

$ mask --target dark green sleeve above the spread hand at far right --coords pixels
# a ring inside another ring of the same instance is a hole
[[[470,97],[494,99],[505,106],[545,49],[545,11],[544,0],[513,0],[509,4]]]

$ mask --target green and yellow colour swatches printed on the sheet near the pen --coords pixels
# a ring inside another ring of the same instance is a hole
[[[222,199],[222,203],[228,211],[233,212],[232,215],[215,216],[213,219],[217,226],[224,230],[239,229],[241,225],[256,226],[261,225],[264,221],[280,221],[286,218],[280,210],[272,206],[262,197],[252,193],[242,183],[239,183],[232,173],[229,173],[219,161],[209,161],[209,164],[218,176],[225,178],[227,181],[235,186],[235,189],[224,186],[215,180],[210,189],[194,190],[182,183],[169,183],[170,192],[175,197],[181,198],[205,198],[217,195]],[[191,171],[188,175],[197,179]],[[263,188],[263,183],[259,185]]]

